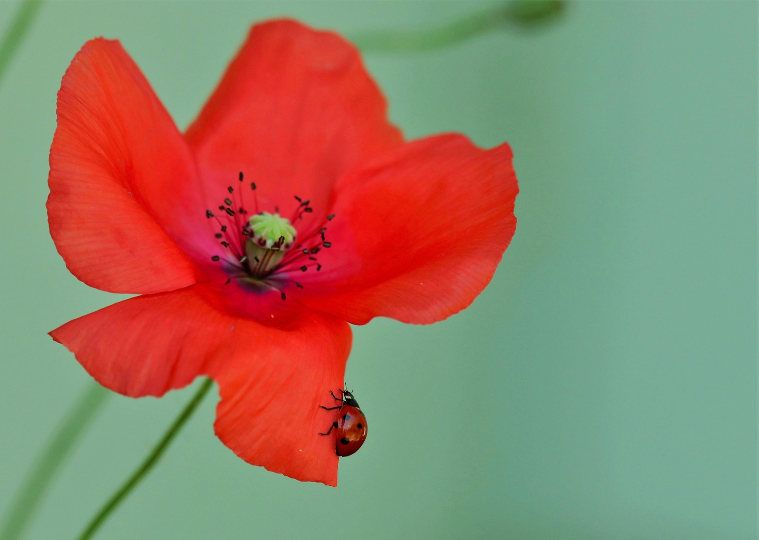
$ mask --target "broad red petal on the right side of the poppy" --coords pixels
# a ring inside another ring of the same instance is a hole
[[[461,311],[490,283],[516,227],[508,144],[481,150],[461,135],[414,141],[341,182],[322,264],[339,283],[301,298],[353,324],[392,317],[428,324]],[[347,272],[346,272],[347,274]],[[308,289],[307,289],[308,290]]]

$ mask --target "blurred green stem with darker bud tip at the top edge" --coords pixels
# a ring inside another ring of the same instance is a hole
[[[453,45],[491,30],[537,27],[555,19],[564,7],[563,0],[515,0],[428,30],[372,31],[349,37],[361,52],[422,52]]]

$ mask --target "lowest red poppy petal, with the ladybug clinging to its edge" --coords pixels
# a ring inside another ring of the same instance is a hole
[[[329,390],[342,387],[348,324],[310,311],[267,327],[220,311],[205,286],[138,296],[50,334],[105,387],[161,396],[208,374],[219,384],[216,434],[253,465],[337,484]],[[333,432],[334,434],[334,432]]]

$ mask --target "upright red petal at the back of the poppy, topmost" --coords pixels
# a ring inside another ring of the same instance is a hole
[[[329,212],[340,175],[402,142],[357,49],[295,21],[250,30],[186,138],[211,201],[242,171],[248,190],[257,184],[258,210],[290,216],[293,195],[310,200],[301,232]]]

